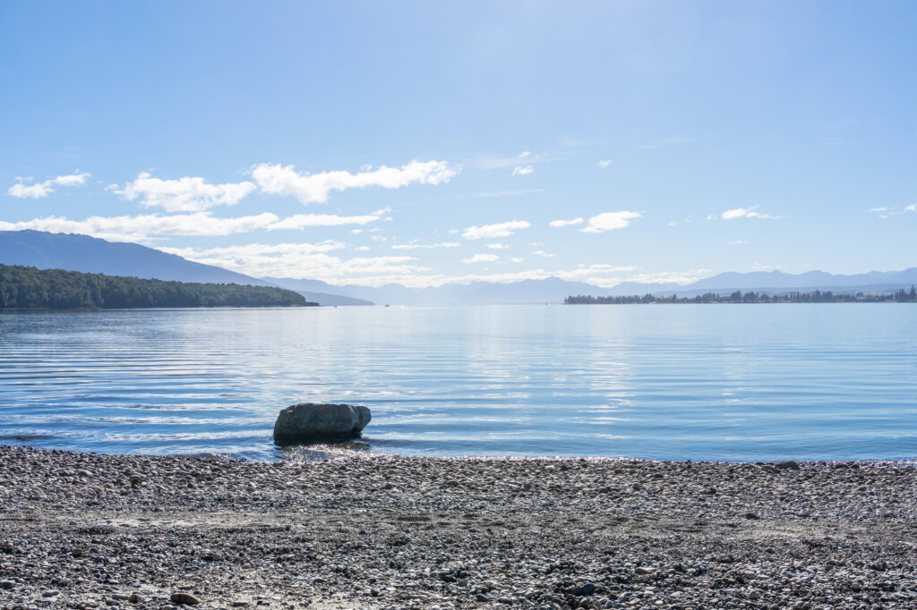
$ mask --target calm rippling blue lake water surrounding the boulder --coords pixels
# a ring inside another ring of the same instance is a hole
[[[912,459],[917,306],[0,314],[0,443],[276,459],[300,401],[372,452]]]

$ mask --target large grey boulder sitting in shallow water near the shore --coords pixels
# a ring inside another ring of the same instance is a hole
[[[359,436],[370,419],[370,409],[361,405],[301,402],[281,410],[274,441],[344,441]]]

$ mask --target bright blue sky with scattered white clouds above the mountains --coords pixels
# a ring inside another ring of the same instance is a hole
[[[913,2],[0,3],[0,230],[378,286],[917,266]]]

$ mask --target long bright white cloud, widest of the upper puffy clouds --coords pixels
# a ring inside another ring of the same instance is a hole
[[[448,182],[458,173],[446,161],[411,161],[401,168],[382,166],[356,174],[348,171],[325,171],[318,174],[299,173],[292,165],[262,163],[251,170],[261,191],[272,195],[292,195],[303,203],[324,203],[331,191],[364,189],[378,186],[398,189],[412,182],[439,184]]]

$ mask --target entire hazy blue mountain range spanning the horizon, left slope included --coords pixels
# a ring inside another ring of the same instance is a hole
[[[401,284],[380,287],[336,286],[317,279],[251,278],[221,267],[194,263],[145,245],[108,242],[88,235],[40,231],[0,231],[0,263],[184,282],[280,286],[295,290],[306,300],[322,305],[559,303],[569,295],[627,296],[649,293],[693,297],[704,292],[725,294],[735,290],[769,293],[812,292],[816,289],[833,292],[891,292],[917,285],[917,267],[911,267],[903,271],[870,271],[849,276],[824,271],[809,271],[798,275],[781,271],[728,271],[687,285],[624,282],[611,289],[560,278],[526,279],[507,284],[444,284],[436,288],[408,288]]]

